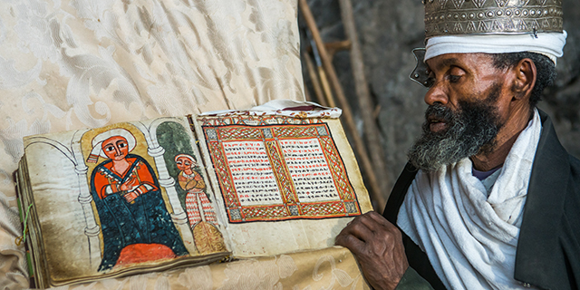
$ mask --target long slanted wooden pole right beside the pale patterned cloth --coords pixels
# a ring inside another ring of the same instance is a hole
[[[364,144],[362,143],[362,138],[356,130],[356,125],[354,124],[353,120],[353,112],[351,111],[350,105],[346,101],[346,97],[344,97],[343,87],[338,81],[338,77],[336,76],[333,63],[330,61],[328,53],[326,53],[326,48],[324,47],[323,40],[320,37],[318,28],[316,27],[316,22],[314,21],[314,16],[312,11],[310,11],[310,7],[306,3],[306,0],[299,0],[298,5],[300,6],[300,10],[304,15],[304,20],[308,26],[308,29],[312,32],[314,43],[316,43],[318,52],[320,53],[324,71],[326,71],[333,91],[336,94],[336,98],[340,103],[341,109],[343,109],[343,121],[346,129],[351,132],[354,150],[358,153],[358,158],[362,165],[362,169],[364,169],[364,172],[366,173],[368,185],[370,187],[369,191],[372,200],[375,203],[375,209],[378,209],[380,212],[385,206],[385,198],[382,195],[381,188],[379,187],[376,176],[374,175],[375,172],[372,169],[371,160],[369,160]]]

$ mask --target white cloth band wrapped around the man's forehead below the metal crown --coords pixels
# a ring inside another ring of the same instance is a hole
[[[562,56],[566,32],[435,36],[427,41],[425,61],[445,53],[541,53],[556,64]]]

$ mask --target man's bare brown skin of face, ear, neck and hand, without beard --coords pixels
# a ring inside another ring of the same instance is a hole
[[[494,84],[501,84],[496,107],[504,126],[491,152],[472,156],[475,169],[488,171],[501,166],[517,136],[530,120],[529,97],[536,83],[536,65],[523,59],[506,69],[493,66],[485,53],[448,53],[427,61],[433,85],[425,102],[458,110],[461,100],[483,100]],[[431,131],[447,130],[444,121],[428,118]],[[409,267],[398,227],[376,212],[354,218],[336,237],[335,244],[349,248],[364,277],[374,289],[394,289]]]

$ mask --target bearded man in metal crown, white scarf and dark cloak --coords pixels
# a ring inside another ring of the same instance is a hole
[[[429,75],[411,75],[430,88],[423,135],[384,218],[336,237],[372,287],[580,287],[580,161],[536,110],[561,4],[532,2],[425,1]]]

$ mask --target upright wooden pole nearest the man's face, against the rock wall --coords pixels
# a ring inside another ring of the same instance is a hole
[[[370,151],[369,157],[372,160],[374,171],[381,174],[381,178],[378,179],[381,192],[388,198],[391,180],[387,176],[387,167],[381,144],[381,132],[378,130],[376,119],[372,114],[374,108],[369,86],[364,75],[364,62],[362,60],[361,43],[354,23],[353,5],[351,0],[339,0],[339,4],[341,6],[344,32],[351,41],[351,67],[353,69],[354,87],[358,96],[359,107],[362,111],[364,137]]]

